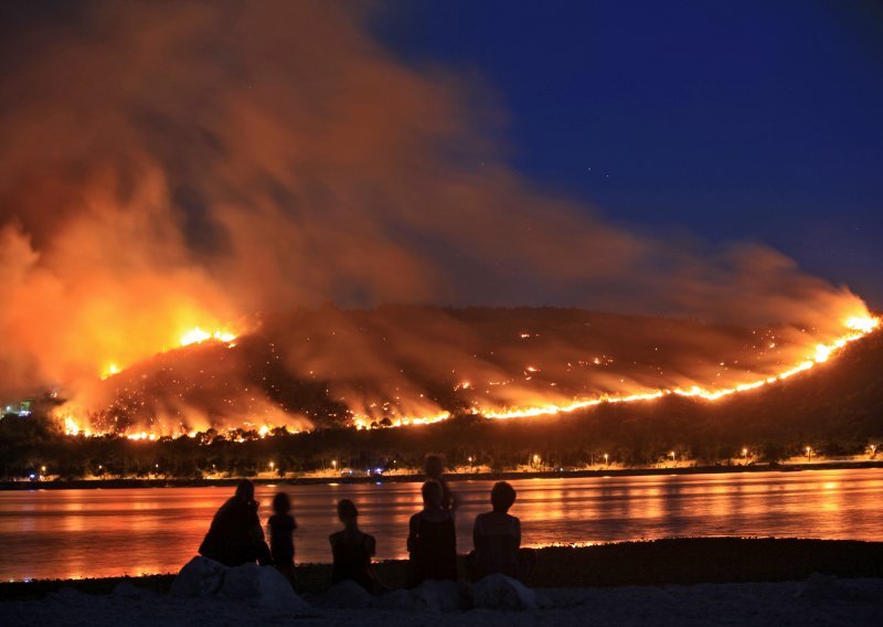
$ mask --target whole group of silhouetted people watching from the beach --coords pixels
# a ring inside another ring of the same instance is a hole
[[[437,455],[426,458],[427,480],[421,489],[423,509],[411,517],[407,551],[408,584],[426,580],[457,581],[456,500],[443,478],[444,463]],[[491,490],[492,511],[479,514],[472,529],[475,551],[466,559],[467,576],[477,581],[502,573],[523,578],[531,568],[532,553],[521,549],[521,523],[510,516],[515,490],[500,481]],[[294,585],[297,522],[291,501],[285,492],[273,499],[273,516],[267,522],[269,546],[257,516],[254,485],[243,480],[236,493],[215,513],[200,553],[226,566],[257,562],[273,565]],[[382,592],[371,560],[376,553],[373,535],[359,529],[359,510],[350,499],[338,502],[338,518],[343,528],[329,536],[333,556],[332,584],[351,580],[371,593]]]

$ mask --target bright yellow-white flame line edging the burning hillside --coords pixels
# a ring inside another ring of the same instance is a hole
[[[813,366],[828,361],[833,354],[839,352],[841,349],[843,349],[843,347],[845,347],[850,342],[854,342],[857,340],[864,338],[869,333],[872,333],[880,327],[880,325],[881,325],[880,318],[873,318],[873,317],[848,318],[844,321],[844,326],[850,330],[850,332],[838,338],[837,340],[834,340],[829,344],[822,344],[822,343],[817,344],[815,353],[812,355],[808,355],[805,361],[777,374],[773,374],[746,383],[741,383],[732,387],[715,389],[715,390],[703,387],[700,385],[693,385],[688,389],[661,387],[657,390],[648,390],[645,392],[638,392],[634,394],[602,394],[589,398],[575,400],[571,403],[562,405],[546,404],[533,407],[513,407],[504,410],[490,410],[490,408],[482,410],[476,407],[472,410],[472,414],[480,415],[489,419],[509,419],[509,418],[526,418],[536,416],[554,416],[557,414],[570,414],[572,412],[576,412],[578,410],[585,410],[588,407],[594,407],[603,403],[634,403],[640,401],[653,401],[666,396],[683,396],[689,398],[701,398],[704,401],[717,401],[720,398],[724,398],[726,396],[731,396],[740,392],[748,392],[751,390],[756,390],[765,385],[785,381],[786,379],[789,379],[796,374],[806,372],[812,369]],[[223,336],[221,333],[214,333],[214,334],[200,333],[200,338],[193,341],[202,342],[210,339],[223,342],[230,342],[235,339],[235,336],[233,336],[232,333],[231,334],[225,333]],[[193,343],[193,341],[187,343]],[[182,340],[182,344],[184,342]],[[427,416],[402,416],[394,419],[392,422],[392,426],[398,427],[406,425],[428,425],[446,421],[450,416],[451,414],[445,411],[440,411],[436,414]],[[372,422],[373,419],[370,416],[357,416],[353,418],[353,424],[358,428],[368,428],[372,424]],[[67,433],[68,435],[77,435],[77,434],[92,435],[92,433],[88,429],[82,428],[71,416],[66,416],[64,418],[64,427],[65,427],[65,433]],[[272,425],[264,425],[259,428],[258,436],[262,438],[266,437],[267,435],[270,434],[270,432],[273,432],[276,428],[277,427],[274,427]],[[190,437],[195,437],[196,432],[190,432],[185,435]],[[142,431],[138,433],[128,434],[126,437],[136,440],[138,439],[156,440],[160,436],[158,436],[155,433]]]

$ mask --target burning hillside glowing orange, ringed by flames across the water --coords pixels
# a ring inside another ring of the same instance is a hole
[[[877,321],[842,325],[829,336],[577,309],[300,310],[235,341],[205,332],[106,378],[58,415],[71,433],[157,437],[526,417],[668,395],[714,401],[823,363]]]

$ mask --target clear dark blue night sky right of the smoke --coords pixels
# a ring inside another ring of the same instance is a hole
[[[617,221],[760,241],[883,307],[883,10],[813,0],[393,0],[414,64],[479,72],[514,166]]]

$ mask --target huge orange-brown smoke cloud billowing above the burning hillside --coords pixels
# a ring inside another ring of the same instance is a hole
[[[78,393],[193,327],[322,302],[788,325],[799,350],[866,312],[768,248],[672,245],[538,191],[487,89],[402,63],[360,4],[47,7],[63,19],[2,9],[24,13],[0,43],[6,393]],[[471,354],[458,329],[414,347]],[[401,370],[348,353],[377,386]],[[298,353],[298,373],[305,357],[336,359]]]

